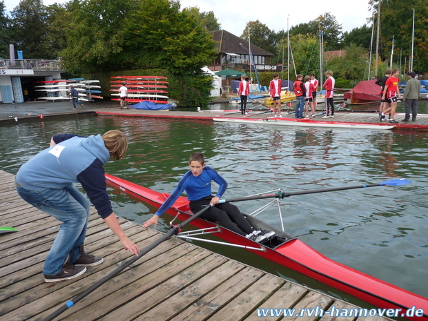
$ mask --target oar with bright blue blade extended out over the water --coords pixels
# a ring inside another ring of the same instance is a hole
[[[249,200],[262,200],[264,198],[284,198],[284,197],[290,197],[295,195],[307,195],[307,194],[315,194],[315,193],[325,193],[325,192],[333,192],[333,191],[344,191],[347,189],[355,189],[355,188],[365,188],[365,187],[375,187],[375,186],[401,186],[405,184],[411,183],[405,178],[400,179],[392,179],[390,181],[385,181],[378,184],[367,184],[367,185],[357,185],[357,186],[344,186],[344,187],[333,187],[333,188],[323,188],[323,189],[316,189],[312,191],[301,191],[301,192],[291,192],[291,193],[284,193],[282,191],[278,191],[278,193],[274,194],[265,194],[265,195],[254,195],[254,196],[248,196],[248,197],[239,197],[239,198],[231,198],[226,200],[220,200],[219,203],[226,203],[226,202],[240,202],[240,201],[249,201]]]

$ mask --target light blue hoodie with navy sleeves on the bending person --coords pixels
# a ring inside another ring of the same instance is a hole
[[[110,153],[101,135],[61,134],[52,139],[55,146],[42,150],[19,168],[17,182],[30,191],[62,189],[80,183],[98,214],[108,217],[113,209],[106,191],[103,166]]]

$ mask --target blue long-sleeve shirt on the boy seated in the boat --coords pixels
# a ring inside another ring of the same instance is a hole
[[[179,180],[178,186],[174,189],[173,193],[166,199],[164,204],[156,211],[155,215],[160,216],[168,208],[170,208],[177,200],[179,195],[186,191],[187,199],[189,201],[200,200],[204,197],[211,195],[211,182],[214,181],[220,185],[218,192],[215,196],[222,197],[227,188],[226,180],[219,175],[213,168],[205,166],[202,173],[194,176],[192,171],[188,171]]]

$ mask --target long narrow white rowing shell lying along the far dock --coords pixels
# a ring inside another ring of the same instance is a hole
[[[369,124],[369,123],[352,123],[342,121],[314,121],[310,119],[291,119],[291,118],[277,118],[277,119],[241,119],[241,118],[213,118],[213,121],[223,121],[227,123],[237,124],[257,124],[257,125],[273,125],[273,126],[298,126],[298,127],[326,127],[326,128],[357,128],[357,129],[376,129],[376,130],[389,130],[395,126],[383,124]]]

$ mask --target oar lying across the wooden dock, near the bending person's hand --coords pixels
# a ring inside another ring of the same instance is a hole
[[[106,283],[108,280],[110,280],[111,278],[113,278],[117,273],[119,273],[119,272],[123,271],[124,269],[126,269],[128,266],[130,266],[130,264],[133,264],[140,257],[142,257],[143,255],[147,254],[151,250],[155,249],[156,246],[158,246],[162,242],[168,240],[168,238],[170,238],[171,236],[177,235],[178,233],[180,233],[182,231],[182,227],[183,226],[186,226],[187,224],[189,224],[190,222],[192,222],[193,220],[195,220],[195,218],[197,218],[199,215],[201,215],[208,208],[211,208],[211,207],[212,207],[212,205],[209,204],[208,206],[202,208],[201,211],[195,213],[194,215],[192,215],[191,217],[189,217],[187,220],[185,220],[184,222],[182,222],[182,224],[171,226],[171,229],[168,232],[166,232],[162,237],[160,237],[155,242],[153,242],[152,244],[150,244],[149,246],[147,246],[146,249],[144,249],[141,252],[139,252],[138,255],[130,258],[130,260],[126,261],[124,264],[122,264],[121,266],[119,266],[114,271],[111,271],[108,275],[104,276],[104,278],[102,278],[101,280],[99,280],[95,284],[91,285],[88,289],[86,289],[85,291],[83,291],[82,293],[80,293],[79,295],[77,295],[76,298],[74,298],[71,301],[68,301],[61,308],[57,309],[57,311],[55,311],[54,313],[48,315],[48,317],[46,317],[45,319],[43,319],[43,321],[53,320],[53,319],[57,318],[58,315],[60,315],[61,313],[63,313],[67,309],[70,309],[70,307],[72,307],[73,305],[75,305],[81,299],[85,298],[86,295],[88,295],[89,293],[93,292],[95,289],[99,288],[99,286],[101,286],[102,284]]]

